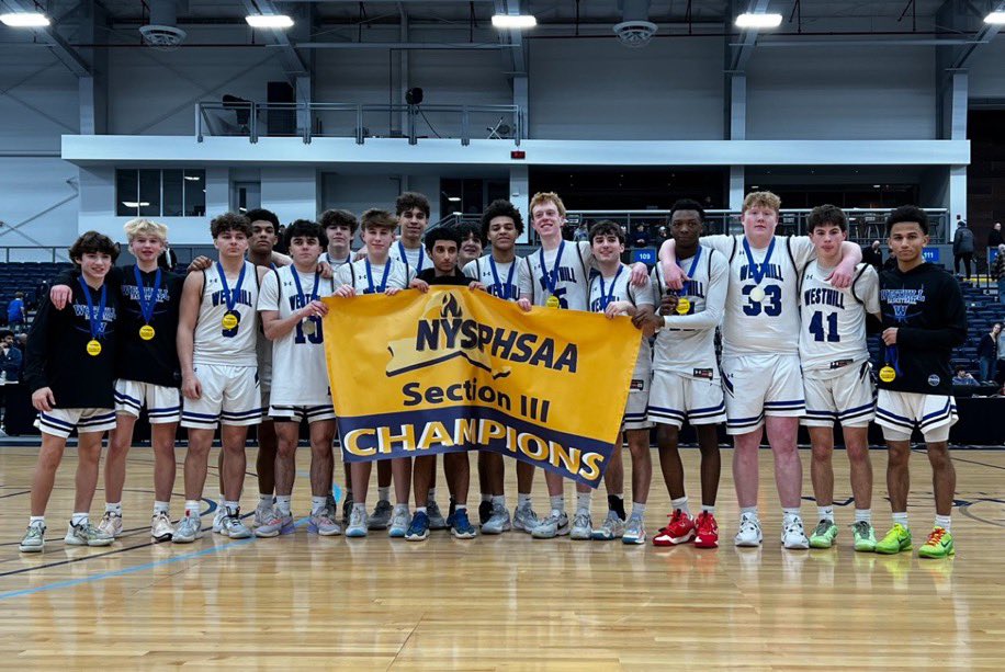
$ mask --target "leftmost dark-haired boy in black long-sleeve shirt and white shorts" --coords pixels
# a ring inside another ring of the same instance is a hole
[[[71,546],[108,546],[115,538],[91,525],[88,512],[98,486],[101,440],[115,428],[113,391],[118,340],[118,293],[105,283],[118,249],[102,234],[88,231],[74,242],[70,259],[80,274],[68,308],[57,310],[43,297],[32,322],[24,379],[38,411],[42,448],[32,476],[31,517],[19,548],[45,548],[45,509],[67,436],[78,434],[74,515],[64,542]]]

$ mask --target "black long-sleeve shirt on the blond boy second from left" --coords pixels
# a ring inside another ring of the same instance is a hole
[[[160,288],[157,291],[157,304],[150,320],[155,333],[151,340],[145,341],[139,338],[139,329],[147,322],[139,309],[139,288],[134,267],[114,267],[108,276],[109,288],[115,288],[122,306],[121,346],[115,362],[115,375],[124,380],[178,387],[181,385],[181,365],[178,362],[176,338],[184,277],[161,269]],[[56,284],[72,286],[79,274],[79,271],[63,273],[56,278]],[[139,275],[144,287],[151,289],[157,272],[140,271]]]

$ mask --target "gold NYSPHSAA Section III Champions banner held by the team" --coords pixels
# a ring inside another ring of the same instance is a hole
[[[348,462],[493,451],[600,483],[639,355],[628,318],[459,287],[324,300]]]

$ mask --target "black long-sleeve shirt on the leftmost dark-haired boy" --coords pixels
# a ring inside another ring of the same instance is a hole
[[[114,408],[118,293],[109,285],[104,327],[98,338],[101,353],[92,356],[87,352],[91,340],[88,301],[77,280],[69,286],[74,297],[63,310],[56,310],[48,296],[42,297],[27,337],[24,379],[33,392],[52,388],[56,408]],[[91,288],[95,310],[100,300],[101,289]]]

